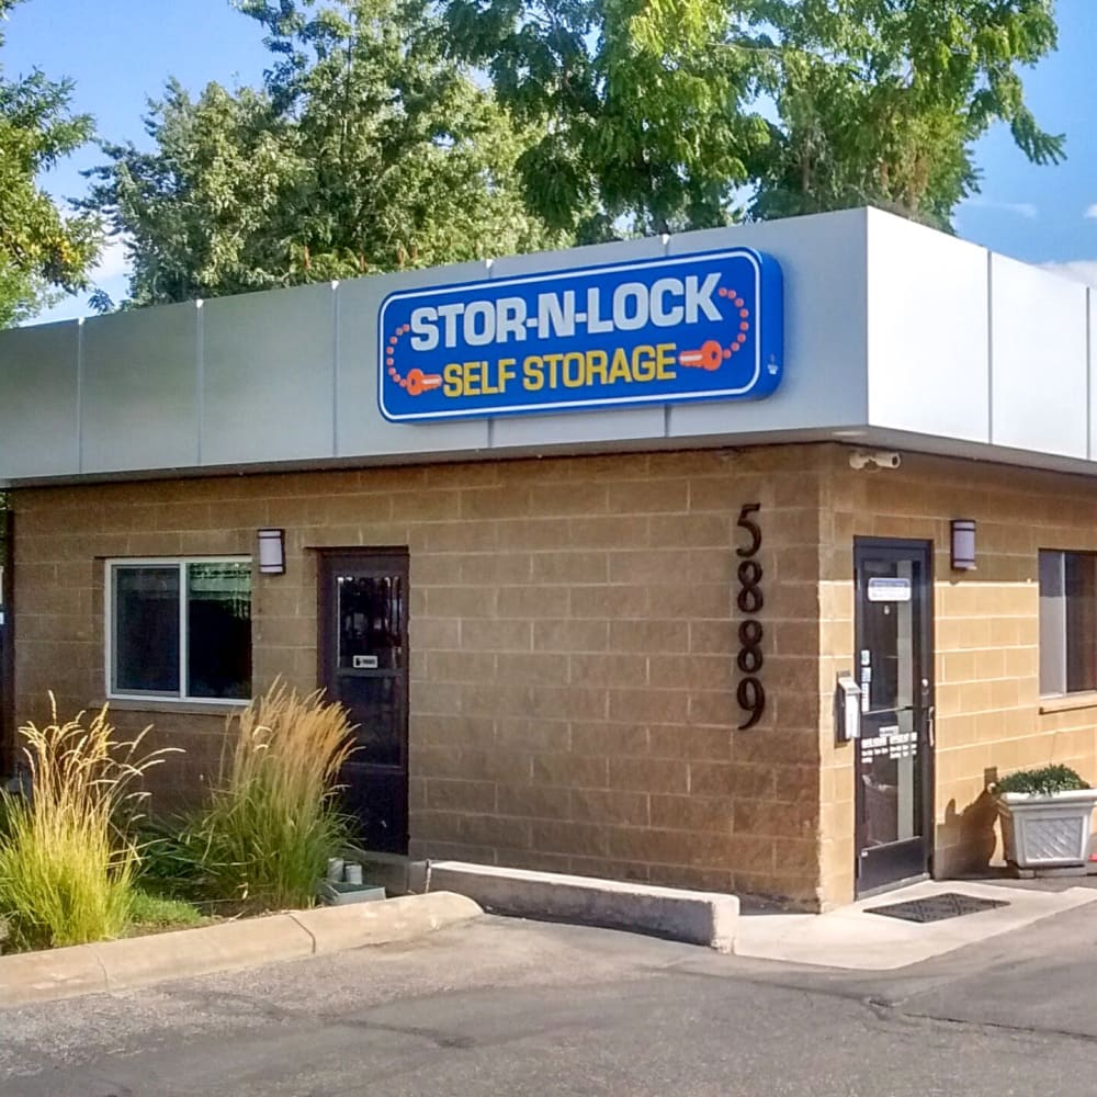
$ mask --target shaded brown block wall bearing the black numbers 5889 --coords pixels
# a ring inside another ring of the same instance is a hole
[[[819,523],[830,452],[20,490],[19,713],[41,719],[47,689],[63,710],[102,700],[106,557],[250,554],[258,528],[284,527],[289,574],[255,580],[256,686],[281,674],[312,689],[310,550],[407,545],[412,856],[816,906],[835,890],[819,869],[821,742],[829,749],[819,712],[829,681],[818,668]],[[769,704],[760,724],[739,732],[735,522],[756,501]],[[154,722],[157,744],[185,748],[158,771],[161,799],[193,795],[215,771],[223,716],[117,719]],[[827,760],[837,778],[840,766]],[[840,803],[827,781],[822,788],[830,866]]]

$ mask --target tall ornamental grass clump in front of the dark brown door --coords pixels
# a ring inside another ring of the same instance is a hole
[[[200,861],[206,897],[245,911],[310,906],[350,824],[339,773],[353,750],[340,704],[283,683],[229,720],[229,744],[207,808],[184,848]]]

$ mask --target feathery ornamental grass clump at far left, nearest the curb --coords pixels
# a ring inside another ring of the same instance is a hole
[[[140,778],[168,750],[142,755],[149,728],[117,740],[106,706],[19,731],[31,795],[0,791],[0,915],[16,947],[110,940],[129,921],[138,852],[127,835]]]

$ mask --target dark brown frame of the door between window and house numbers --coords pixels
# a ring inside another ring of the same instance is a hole
[[[373,770],[377,773],[384,773],[392,778],[394,774],[399,773],[402,780],[399,783],[399,791],[403,795],[404,801],[404,833],[399,835],[398,845],[400,849],[398,852],[406,853],[408,848],[409,833],[408,833],[408,807],[409,807],[409,779],[408,779],[408,732],[410,722],[410,710],[411,710],[411,699],[410,699],[410,649],[408,647],[408,625],[409,625],[409,607],[410,607],[410,585],[408,583],[408,575],[410,570],[410,558],[409,553],[406,547],[382,545],[378,547],[370,547],[367,545],[349,545],[349,546],[337,546],[337,547],[324,547],[316,548],[315,552],[319,556],[317,562],[318,566],[316,569],[317,578],[317,644],[316,644],[316,655],[317,655],[317,683],[329,691],[330,693],[330,682],[328,679],[328,668],[333,667],[336,661],[338,661],[338,638],[337,630],[332,629],[332,623],[336,620],[336,613],[338,612],[338,601],[335,596],[335,584],[331,581],[336,573],[340,568],[348,568],[350,570],[357,572],[359,574],[369,574],[369,572],[375,572],[376,575],[392,575],[394,569],[398,569],[399,574],[404,576],[404,597],[405,607],[404,612],[400,614],[400,641],[404,651],[404,667],[403,667],[403,685],[404,685],[404,712],[403,712],[403,728],[402,728],[402,739],[400,739],[400,765],[383,765],[383,764],[359,764],[361,768],[365,771]],[[386,562],[387,566],[386,566]],[[360,671],[363,677],[370,675],[369,670]]]

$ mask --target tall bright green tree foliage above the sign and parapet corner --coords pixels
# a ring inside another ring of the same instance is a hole
[[[942,228],[995,122],[1054,162],[1019,69],[1048,0],[446,0],[452,48],[544,135],[530,207],[584,238],[875,204]]]

